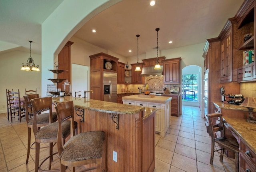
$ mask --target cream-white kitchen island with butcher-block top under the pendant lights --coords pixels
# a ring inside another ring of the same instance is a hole
[[[142,94],[143,96],[144,94]],[[162,137],[165,136],[170,126],[170,108],[172,97],[154,96],[152,98],[138,97],[139,95],[122,97],[123,104],[157,108],[156,111],[156,132]]]

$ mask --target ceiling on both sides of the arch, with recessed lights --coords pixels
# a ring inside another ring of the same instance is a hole
[[[40,54],[41,24],[62,1],[0,0],[0,53],[8,51],[5,47],[29,51],[28,40],[32,40],[32,53]],[[199,44],[217,37],[243,1],[157,0],[150,6],[150,0],[123,0],[92,18],[74,36],[126,57],[137,55],[137,34],[139,54],[152,51],[156,28],[160,28],[159,50]]]

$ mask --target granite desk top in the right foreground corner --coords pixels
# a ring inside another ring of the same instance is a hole
[[[246,119],[242,118],[229,118],[224,116],[223,119],[230,124],[232,130],[246,145],[256,153],[256,124],[246,122]]]

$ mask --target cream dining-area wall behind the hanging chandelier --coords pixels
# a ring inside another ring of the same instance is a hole
[[[6,112],[6,89],[18,92],[20,97],[25,95],[25,88],[35,90],[41,96],[41,72],[22,71],[22,63],[27,62],[29,52],[13,51],[0,54],[0,113]],[[31,54],[35,64],[41,70],[41,55]]]

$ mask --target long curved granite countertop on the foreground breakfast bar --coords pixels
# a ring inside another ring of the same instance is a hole
[[[53,97],[53,102],[66,102],[71,101],[74,102],[75,108],[82,108],[86,110],[104,112],[104,113],[116,113],[116,114],[136,114],[145,111],[144,119],[150,116],[153,112],[155,112],[156,108],[145,108],[143,106],[132,106],[120,103],[106,102],[100,100],[93,100],[88,98],[76,98],[71,96],[65,97]]]

